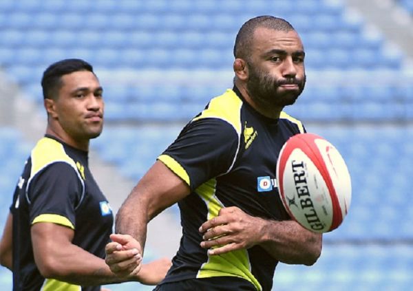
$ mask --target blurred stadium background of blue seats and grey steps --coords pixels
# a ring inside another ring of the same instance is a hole
[[[285,18],[301,35],[307,85],[285,110],[335,144],[353,187],[350,212],[324,235],[317,263],[280,263],[274,290],[410,290],[412,0],[0,0],[0,227],[45,130],[40,80],[48,65],[94,65],[106,108],[90,162],[116,212],[181,127],[232,87],[235,35],[261,14]],[[149,224],[145,260],[175,254],[177,209]],[[0,267],[1,290],[11,282]]]

